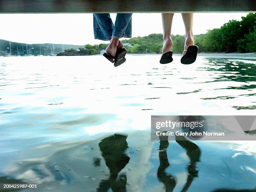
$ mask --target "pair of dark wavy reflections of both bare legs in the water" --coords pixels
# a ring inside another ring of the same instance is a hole
[[[164,184],[166,192],[172,192],[176,181],[171,174],[166,174],[165,169],[169,167],[167,148],[169,146],[168,136],[159,136],[160,146],[159,146],[159,161],[160,165],[157,170],[158,179]],[[187,151],[187,156],[189,157],[189,166],[187,168],[188,177],[187,182],[184,185],[182,192],[186,192],[190,185],[192,184],[195,177],[198,176],[198,171],[196,170],[196,164],[200,161],[200,148],[191,141],[188,141],[183,136],[176,136],[177,143],[182,146]]]

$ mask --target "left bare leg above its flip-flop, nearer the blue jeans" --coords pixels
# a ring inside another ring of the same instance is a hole
[[[171,29],[172,29],[172,18],[174,13],[162,13],[162,23],[164,31],[164,45],[162,49],[162,54],[167,51],[172,51],[172,38],[171,38]]]

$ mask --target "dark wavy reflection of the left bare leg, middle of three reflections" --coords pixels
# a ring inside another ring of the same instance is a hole
[[[169,146],[168,136],[159,136],[160,146],[159,146],[159,161],[160,165],[157,169],[157,177],[164,184],[166,192],[172,192],[176,182],[172,175],[168,175],[165,172],[165,169],[169,167],[168,157],[166,149]]]

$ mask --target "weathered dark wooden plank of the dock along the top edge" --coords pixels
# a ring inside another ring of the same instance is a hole
[[[0,13],[255,12],[256,0],[0,0]]]

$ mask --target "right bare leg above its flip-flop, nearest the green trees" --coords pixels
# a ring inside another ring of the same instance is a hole
[[[185,45],[184,45],[184,55],[186,53],[187,47],[189,45],[194,45],[194,35],[193,35],[193,13],[182,13],[182,19],[185,26]]]

